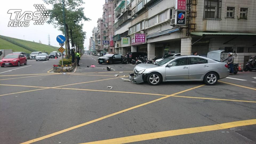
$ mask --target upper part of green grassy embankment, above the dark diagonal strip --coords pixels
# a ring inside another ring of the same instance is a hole
[[[6,36],[4,36],[6,37]],[[42,43],[37,43],[37,42],[31,42],[31,41],[25,41],[25,40],[22,40],[22,39],[17,39],[17,38],[11,38],[11,37],[6,37],[6,38],[9,38],[17,43],[20,43],[24,46],[27,46],[31,49],[34,49],[36,51],[42,51],[42,52],[52,52],[52,51],[58,51],[58,47],[56,47],[56,49],[54,49],[53,47],[49,46],[49,45],[45,45],[45,44],[42,44]],[[0,44],[1,45],[1,44]],[[26,51],[25,51],[26,52]]]

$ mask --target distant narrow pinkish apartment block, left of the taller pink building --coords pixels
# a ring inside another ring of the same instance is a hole
[[[97,25],[97,30],[98,30],[98,47],[99,49],[97,50],[98,53],[104,53],[104,47],[103,47],[103,37],[106,35],[106,31],[104,30],[104,24],[103,24],[103,18],[99,18],[97,21],[98,25]]]

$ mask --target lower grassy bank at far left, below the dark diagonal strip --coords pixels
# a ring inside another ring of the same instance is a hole
[[[31,51],[24,49],[23,47],[14,45],[4,39],[0,38],[0,49],[13,49],[13,52],[24,51],[25,53],[31,53]]]

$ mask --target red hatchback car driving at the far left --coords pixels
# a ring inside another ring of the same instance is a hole
[[[7,54],[0,60],[0,66],[20,66],[27,64],[27,58],[23,54]]]

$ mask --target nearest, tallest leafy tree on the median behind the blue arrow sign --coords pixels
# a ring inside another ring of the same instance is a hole
[[[63,7],[62,0],[43,0],[46,4],[53,5],[53,9],[49,10],[49,20],[47,23],[51,23],[55,28],[59,28],[64,32],[64,21],[63,21]],[[74,29],[79,22],[82,20],[89,21],[91,19],[85,17],[83,13],[83,7],[80,7],[84,2],[82,0],[63,0],[64,1],[64,11],[65,11],[65,21],[66,21],[66,39],[67,39],[67,52],[68,58],[70,58],[70,45],[69,45],[69,29],[72,35],[72,29]],[[73,41],[73,37],[71,42]]]

